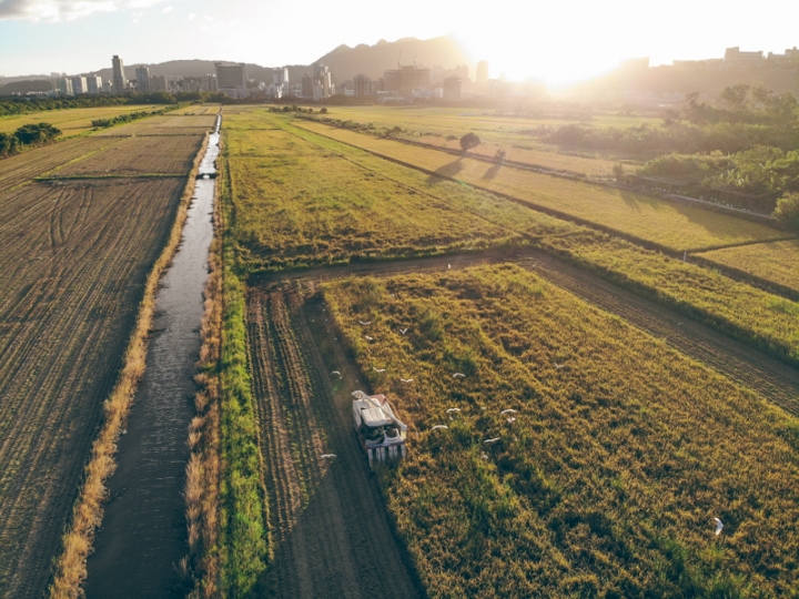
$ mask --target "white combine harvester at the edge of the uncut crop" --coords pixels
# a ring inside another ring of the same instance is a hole
[[[407,426],[394,416],[385,395],[366,395],[357,390],[353,393],[353,417],[355,433],[361,447],[366,451],[370,468],[380,464],[403,459]]]

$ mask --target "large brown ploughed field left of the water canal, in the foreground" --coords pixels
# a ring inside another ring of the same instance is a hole
[[[42,182],[3,196],[3,597],[45,589],[146,273],[184,185],[179,177]]]

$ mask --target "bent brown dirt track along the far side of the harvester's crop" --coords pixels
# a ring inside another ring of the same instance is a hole
[[[677,314],[650,300],[617,287],[598,275],[535,250],[507,254],[499,251],[391,263],[350,264],[303,272],[273,274],[254,280],[262,288],[281,281],[330,280],[350,275],[386,276],[401,273],[446,270],[477,264],[516,262],[555,285],[615,314],[633,326],[664,339],[678,352],[749,387],[786,412],[799,416],[799,370],[776,361],[741,342]]]

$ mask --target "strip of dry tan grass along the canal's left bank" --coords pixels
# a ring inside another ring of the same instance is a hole
[[[196,173],[200,167],[208,141],[206,133],[194,158],[192,173]],[[111,396],[103,404],[105,413],[103,424],[92,445],[91,457],[85,466],[84,480],[72,509],[71,521],[62,537],[62,551],[55,561],[55,573],[49,588],[51,599],[78,599],[82,596],[81,585],[87,577],[87,558],[92,549],[94,532],[102,522],[103,504],[108,498],[105,481],[117,467],[114,460],[117,440],[130,412],[136,386],[144,374],[150,328],[155,314],[155,293],[162,274],[180,245],[194,192],[192,183],[193,179],[190,177],[180,199],[166,245],[148,275],[122,370]]]

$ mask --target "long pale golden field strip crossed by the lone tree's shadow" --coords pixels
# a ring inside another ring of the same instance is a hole
[[[715,212],[646,195],[533,173],[510,166],[377,139],[307,121],[295,124],[378,155],[508,194],[543,210],[599,225],[672,252],[699,251],[752,241],[783,238],[783,232]],[[431,181],[434,186],[435,181]]]

